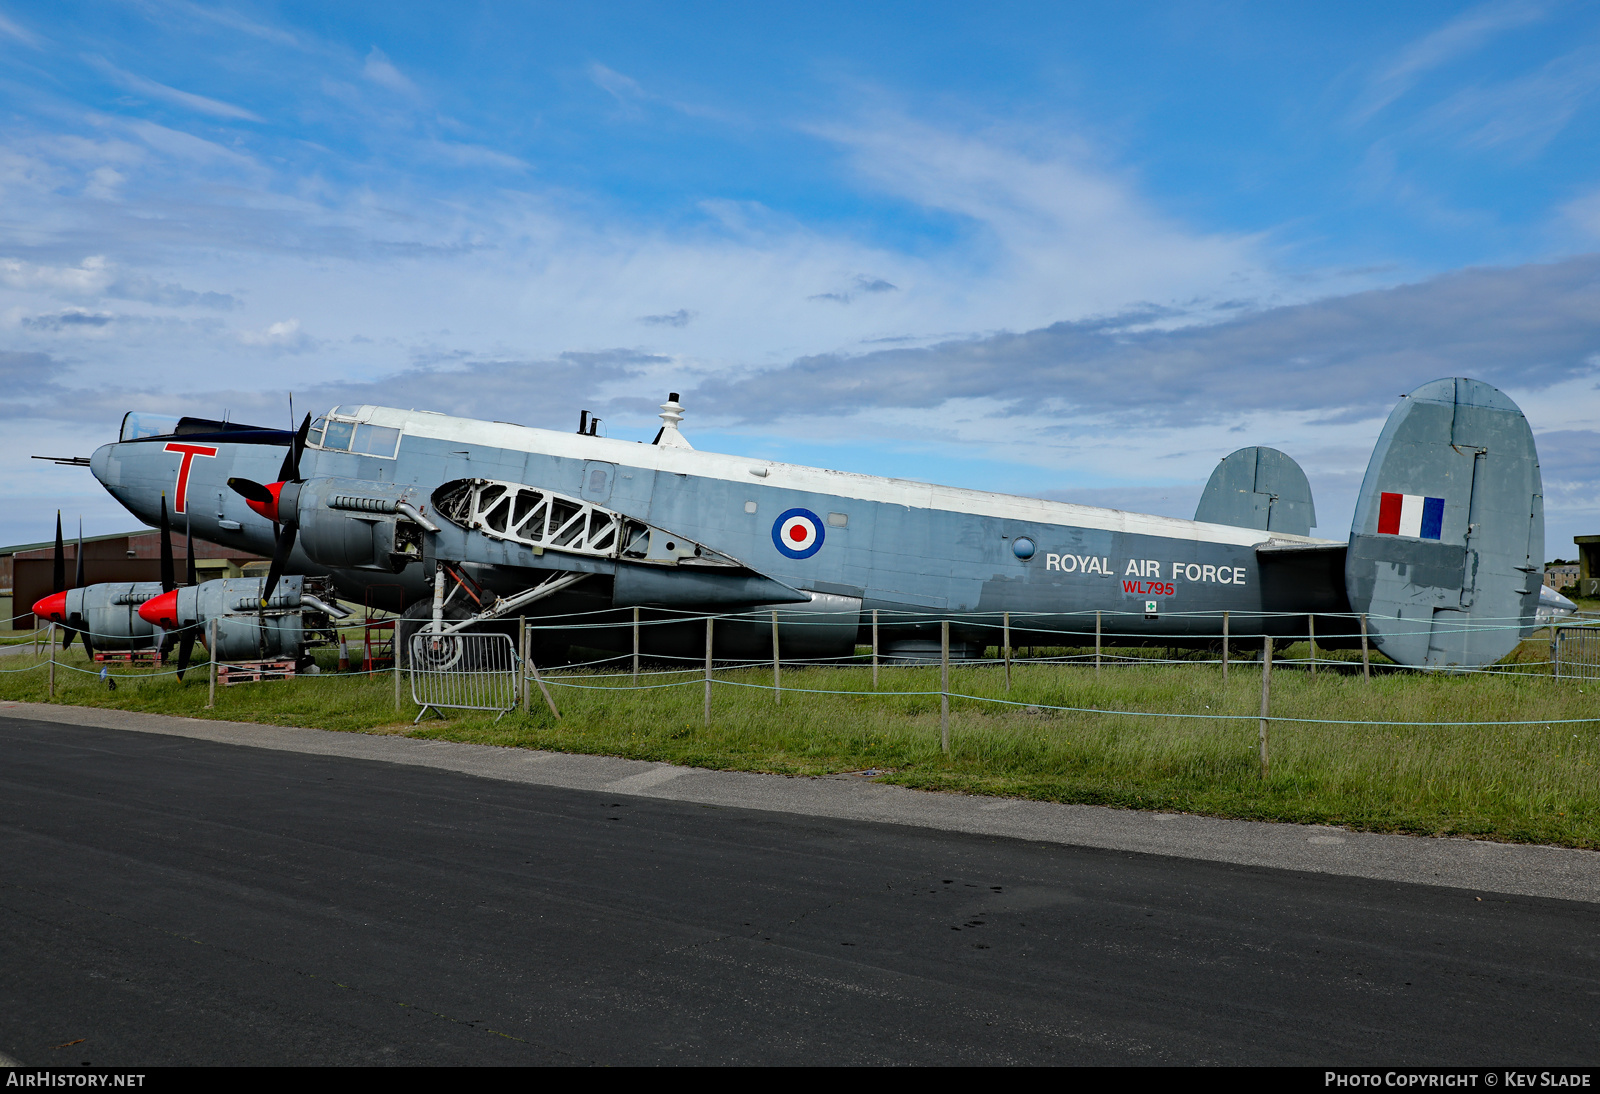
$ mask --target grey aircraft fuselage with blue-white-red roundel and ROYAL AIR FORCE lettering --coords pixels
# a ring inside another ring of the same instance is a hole
[[[816,608],[843,613],[838,622],[851,635],[872,609],[882,613],[885,630],[907,635],[926,633],[928,621],[946,616],[994,624],[1013,613],[1014,641],[1029,633],[1093,633],[1094,613],[1102,613],[1107,633],[1179,640],[1219,635],[1222,611],[1232,614],[1234,633],[1304,633],[1304,617],[1272,613],[1347,609],[1342,542],[437,414],[346,409],[352,413],[344,417],[355,422],[398,430],[394,456],[309,446],[301,461],[306,480],[338,477],[389,491],[410,486],[424,507],[442,483],[526,483],[669,529],[754,574],[811,593]],[[186,446],[208,451],[186,453]],[[283,448],[274,445],[154,438],[102,446],[91,467],[141,520],[155,521],[166,493],[195,534],[267,555],[272,523],[251,512],[227,480],[272,481],[282,457]],[[794,510],[811,518],[821,539],[808,557],[779,547],[779,518]],[[290,569],[331,573],[352,600],[368,587],[400,585],[406,603],[427,595],[434,558],[469,565],[502,595],[528,587],[541,571],[602,576],[536,608],[550,614],[627,606],[621,597],[627,582],[618,574],[646,573],[629,569],[624,560],[538,552],[440,523],[440,534],[427,537],[427,557],[402,573],[328,566],[315,550],[306,553],[306,533]],[[1285,553],[1258,553],[1269,541]],[[696,603],[694,582],[683,569],[648,574],[650,587],[664,592],[646,598],[646,606],[738,609],[714,598]],[[800,600],[797,593],[771,603],[790,614]],[[1330,624],[1322,633],[1333,637],[1336,629]],[[995,645],[997,637],[973,632],[966,640]]]

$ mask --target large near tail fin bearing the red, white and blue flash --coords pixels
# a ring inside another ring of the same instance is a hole
[[[1355,502],[1344,584],[1402,665],[1486,665],[1534,625],[1544,486],[1528,419],[1482,381],[1424,384],[1389,414]]]

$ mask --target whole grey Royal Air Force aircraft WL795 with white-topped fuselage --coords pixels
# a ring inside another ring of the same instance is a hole
[[[1304,635],[1314,614],[1318,641],[1339,643],[1365,613],[1376,646],[1416,667],[1498,661],[1536,617],[1533,433],[1472,379],[1402,397],[1339,541],[1309,536],[1306,475],[1266,448],[1222,461],[1197,518],[1178,520],[701,453],[682,409],[662,405],[653,443],[384,406],[293,433],[134,413],[91,469],[146,523],[166,496],[194,534],[274,555],[267,579],[226,595],[150,597],[141,614],[165,627],[248,619],[262,598],[293,609],[304,587],[285,574],[350,600],[397,587],[413,629],[586,613],[571,640],[613,649],[635,606],[749,613],[715,629],[723,657],[770,654],[771,608],[786,656],[848,656],[880,609],[883,654],[901,659],[938,649],[939,619],[952,656],[978,656],[1003,611],[1014,645],[1077,645],[1096,611],[1174,645],[1219,638],[1222,611],[1234,635]],[[645,629],[646,653],[702,641],[690,622]]]

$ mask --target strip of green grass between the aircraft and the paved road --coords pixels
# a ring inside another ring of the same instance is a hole
[[[1546,649],[1526,643],[1518,657],[1538,661]],[[1299,646],[1286,656],[1304,653]],[[786,686],[845,694],[786,693],[781,705],[770,691],[718,685],[710,726],[702,721],[704,691],[694,673],[648,678],[686,681],[680,688],[621,691],[627,677],[578,680],[578,673],[550,672],[557,685],[598,689],[555,686],[560,721],[534,693],[531,715],[517,712],[499,723],[477,713],[429,717],[416,729],[410,696],[395,712],[387,675],[221,688],[216,709],[206,710],[203,665],[184,683],[133,672],[117,691],[96,677],[58,670],[56,702],[795,776],[877,768],[886,782],[930,790],[1600,848],[1600,688],[1554,681],[1531,664],[1523,673],[1392,672],[1363,683],[1358,665],[1344,657],[1346,672],[1325,665],[1312,677],[1304,667],[1275,669],[1272,713],[1536,725],[1274,721],[1270,776],[1262,781],[1261,670],[1254,664],[1237,664],[1224,686],[1221,670],[1206,664],[1130,664],[1107,667],[1096,678],[1091,667],[1022,662],[1010,693],[998,669],[955,669],[952,691],[1032,709],[952,701],[949,755],[939,747],[939,697],[874,696],[870,670],[861,667],[786,669]],[[77,649],[69,659],[83,665]],[[10,656],[0,669],[29,661]],[[770,685],[771,670],[722,670],[718,680]],[[938,669],[882,672],[883,691],[938,686]],[[3,699],[45,701],[45,693],[43,669],[0,675]],[[1139,718],[1050,705],[1245,717]],[[1560,725],[1570,718],[1595,721]]]

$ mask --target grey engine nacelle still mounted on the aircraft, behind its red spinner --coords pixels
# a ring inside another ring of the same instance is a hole
[[[299,549],[318,566],[398,574],[422,558],[422,533],[438,531],[414,486],[370,478],[285,483],[280,518],[299,528]]]

